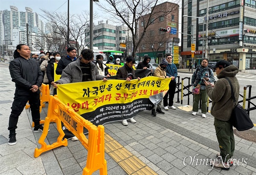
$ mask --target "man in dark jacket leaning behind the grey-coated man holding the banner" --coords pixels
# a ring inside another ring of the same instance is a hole
[[[73,61],[76,61],[76,48],[69,47],[67,48],[67,56],[62,57],[62,59],[58,62],[56,74],[61,75],[62,71],[67,67],[67,65]]]

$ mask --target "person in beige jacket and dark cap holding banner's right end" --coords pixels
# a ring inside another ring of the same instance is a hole
[[[154,76],[155,77],[160,77],[160,78],[170,78],[169,76],[166,76],[166,67],[168,65],[168,62],[166,59],[163,59],[160,63],[160,65],[155,69],[154,71]],[[166,94],[167,95],[167,94]],[[154,104],[154,108],[151,110],[151,115],[153,117],[157,116],[156,112],[159,114],[164,114],[164,112],[161,110],[161,104],[162,100],[156,104]]]

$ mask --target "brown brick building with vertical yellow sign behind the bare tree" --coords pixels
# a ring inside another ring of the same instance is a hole
[[[157,60],[157,58],[165,57],[166,54],[173,54],[175,63],[179,63],[179,49],[177,49],[177,52],[173,51],[173,48],[179,48],[177,33],[179,30],[179,5],[169,2],[161,3],[155,6],[150,19],[149,14],[140,17],[137,24],[137,40],[143,34],[145,24],[148,23],[148,20],[149,26],[137,49],[136,60],[143,60],[143,57],[148,55],[151,57],[151,62],[155,60],[159,63],[161,60]],[[167,28],[168,32],[166,32]],[[163,31],[160,29],[163,29]]]

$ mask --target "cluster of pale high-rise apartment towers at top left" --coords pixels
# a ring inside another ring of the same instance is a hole
[[[10,6],[11,10],[0,11],[0,39],[5,40],[4,44],[17,46],[26,41],[26,24],[29,24],[29,45],[32,46],[33,37],[38,37],[44,32],[44,23],[38,19],[38,14],[31,8],[25,7],[26,11],[18,11],[15,6]],[[38,38],[41,40],[41,38]]]

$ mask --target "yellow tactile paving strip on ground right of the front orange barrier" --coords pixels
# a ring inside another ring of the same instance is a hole
[[[116,161],[128,175],[157,175],[139,158],[105,133],[105,152]]]

